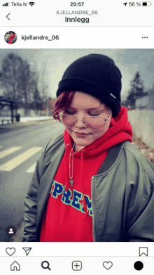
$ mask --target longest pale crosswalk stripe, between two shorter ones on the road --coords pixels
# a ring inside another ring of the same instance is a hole
[[[36,154],[38,151],[40,151],[42,147],[32,147],[29,150],[25,151],[24,153],[21,153],[15,158],[12,158],[6,163],[3,163],[3,165],[0,165],[0,171],[11,171],[18,165],[20,165],[22,162],[25,162],[28,158],[30,158],[32,155]]]

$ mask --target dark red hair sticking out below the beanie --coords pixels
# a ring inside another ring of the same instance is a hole
[[[58,115],[59,112],[66,110],[66,108],[71,105],[75,92],[76,91],[63,91],[62,94],[58,96],[53,108],[53,117],[55,120],[58,120],[58,117],[55,117],[55,115]]]

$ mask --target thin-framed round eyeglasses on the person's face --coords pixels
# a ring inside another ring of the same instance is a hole
[[[111,114],[109,115],[109,117]],[[65,115],[65,114],[59,114],[55,115],[55,117],[58,117],[59,122],[66,126],[73,126],[76,124],[78,120],[76,120],[76,117],[73,117],[72,115]],[[90,126],[91,128],[99,128],[99,127],[104,127],[105,123],[107,120],[109,120],[109,117],[104,118],[104,117],[95,117],[95,116],[88,116],[88,117],[83,117],[83,122],[85,123],[86,126]]]

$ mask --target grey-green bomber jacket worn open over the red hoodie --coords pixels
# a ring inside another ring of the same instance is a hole
[[[64,155],[64,136],[49,141],[25,198],[22,241],[40,238],[43,211]],[[92,177],[92,232],[97,242],[154,241],[154,165],[129,141],[113,148]]]

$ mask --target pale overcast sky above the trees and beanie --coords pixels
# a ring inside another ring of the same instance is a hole
[[[137,71],[140,72],[146,89],[151,89],[154,83],[154,49],[0,49],[0,62],[10,52],[27,60],[31,70],[36,69],[40,77],[45,70],[48,94],[54,97],[68,65],[90,53],[101,53],[113,58],[123,77],[122,98],[127,96],[130,81]]]

